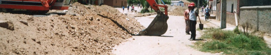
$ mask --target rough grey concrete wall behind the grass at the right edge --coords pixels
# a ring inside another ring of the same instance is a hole
[[[240,7],[239,25],[251,23],[255,30],[271,33],[271,6]]]

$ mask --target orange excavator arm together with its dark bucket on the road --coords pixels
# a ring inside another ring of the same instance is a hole
[[[157,12],[157,16],[153,19],[150,25],[139,32],[140,36],[161,36],[168,30],[168,6],[162,1],[164,5],[158,5],[155,0],[146,0],[150,6]],[[159,9],[159,7],[165,8],[165,14]]]

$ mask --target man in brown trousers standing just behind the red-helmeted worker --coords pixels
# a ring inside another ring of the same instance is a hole
[[[189,20],[189,12],[191,9],[186,9],[185,12],[183,13],[183,15],[185,16],[185,33],[190,35],[190,20]]]

